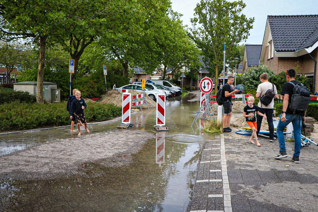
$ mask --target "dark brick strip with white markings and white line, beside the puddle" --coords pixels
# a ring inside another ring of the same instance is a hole
[[[205,145],[193,192],[187,211],[232,211],[223,135]]]

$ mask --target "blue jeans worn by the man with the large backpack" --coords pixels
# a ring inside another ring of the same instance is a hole
[[[284,129],[289,123],[292,123],[294,128],[294,139],[295,139],[294,156],[299,156],[300,148],[301,148],[301,121],[302,121],[302,116],[299,114],[286,114],[286,122],[282,122],[281,120],[279,120],[279,123],[276,128],[276,132],[277,132],[277,138],[279,142],[280,151],[286,151]]]

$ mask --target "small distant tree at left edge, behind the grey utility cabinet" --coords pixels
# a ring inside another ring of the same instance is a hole
[[[18,64],[22,64],[25,56],[25,46],[19,43],[0,43],[0,64],[6,69],[5,82],[10,83],[10,74],[17,68]]]

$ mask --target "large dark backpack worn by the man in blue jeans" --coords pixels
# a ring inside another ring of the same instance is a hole
[[[289,104],[289,109],[298,111],[306,111],[308,108],[308,104],[310,102],[310,92],[309,90],[302,84],[294,84],[289,82],[290,84],[294,85],[292,100]]]

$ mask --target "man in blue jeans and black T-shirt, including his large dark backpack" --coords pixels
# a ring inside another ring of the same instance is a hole
[[[284,129],[289,124],[294,128],[294,155],[292,160],[299,163],[299,154],[301,148],[301,126],[302,121],[305,123],[306,111],[310,102],[310,93],[308,89],[295,80],[296,71],[294,69],[286,70],[287,83],[283,85],[281,95],[284,96],[283,111],[276,128],[280,154],[275,156],[276,159],[287,157],[285,148]]]

